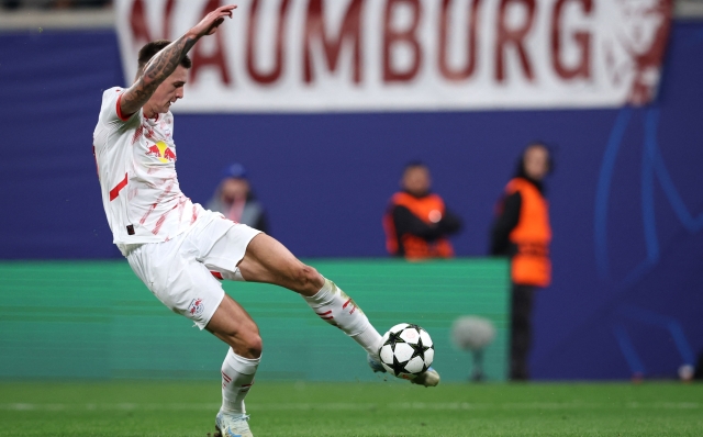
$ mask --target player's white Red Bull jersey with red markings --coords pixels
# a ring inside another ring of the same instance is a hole
[[[203,209],[178,184],[174,115],[152,120],[140,110],[123,119],[123,92],[115,87],[102,94],[93,153],[113,243],[125,254],[126,245],[166,242],[187,231]]]

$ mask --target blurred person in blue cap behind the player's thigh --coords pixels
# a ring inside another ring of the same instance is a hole
[[[222,176],[224,179],[208,202],[207,209],[268,234],[266,212],[252,192],[244,166],[232,164],[223,170]]]

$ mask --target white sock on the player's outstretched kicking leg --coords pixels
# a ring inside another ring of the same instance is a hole
[[[303,298],[320,318],[344,330],[367,352],[378,359],[381,335],[356,302],[334,282],[325,279],[325,284],[315,295]]]

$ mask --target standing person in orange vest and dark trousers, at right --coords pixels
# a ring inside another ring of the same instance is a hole
[[[538,287],[551,281],[551,227],[544,197],[544,178],[551,171],[549,149],[540,143],[525,148],[515,177],[505,187],[493,223],[491,254],[511,258],[512,380],[528,380],[532,346],[532,309]]]

